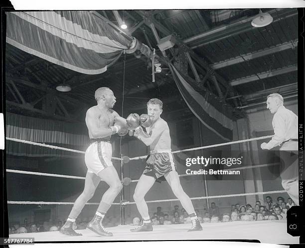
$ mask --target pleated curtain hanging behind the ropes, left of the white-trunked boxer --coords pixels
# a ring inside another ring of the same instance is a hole
[[[6,113],[6,137],[46,143],[84,151],[89,144],[87,127],[60,121],[37,119]],[[18,156],[70,156],[69,151],[6,140],[6,152]]]

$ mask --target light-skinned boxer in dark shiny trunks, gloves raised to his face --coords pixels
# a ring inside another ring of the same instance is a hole
[[[130,135],[135,135],[145,145],[150,146],[151,155],[146,160],[146,167],[136,186],[134,200],[143,218],[143,225],[132,232],[152,231],[147,203],[144,200],[147,192],[154,182],[165,178],[174,195],[180,200],[182,207],[191,218],[192,228],[188,231],[201,231],[202,227],[195,213],[194,207],[188,195],[183,191],[179,175],[176,171],[173,155],[171,153],[171,139],[167,123],[160,118],[162,114],[162,102],[159,99],[151,99],[147,103],[148,115],[138,118],[137,114],[131,114],[127,118],[130,126]],[[140,121],[141,119],[141,121]],[[139,122],[140,121],[140,122]],[[147,132],[143,130],[146,127]]]

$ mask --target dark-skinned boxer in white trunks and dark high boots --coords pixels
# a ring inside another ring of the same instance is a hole
[[[85,153],[85,162],[88,168],[84,190],[76,199],[69,217],[60,229],[60,233],[69,236],[81,236],[72,227],[73,223],[81,213],[85,204],[93,197],[97,186],[103,180],[109,185],[104,193],[96,214],[87,228],[100,236],[112,236],[102,224],[103,218],[123,188],[118,173],[114,168],[112,157],[111,135],[118,133],[125,135],[128,132],[126,120],[113,111],[116,103],[113,92],[102,87],[96,90],[95,99],[97,105],[91,107],[86,113],[86,125],[91,144]]]

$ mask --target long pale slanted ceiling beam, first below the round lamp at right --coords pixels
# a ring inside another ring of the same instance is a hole
[[[225,61],[220,61],[220,62],[216,62],[214,64],[211,64],[211,68],[214,70],[226,67],[226,66],[230,66],[230,65],[234,65],[234,64],[238,64],[238,63],[242,63],[244,61],[248,61],[251,59],[256,59],[268,54],[272,54],[272,53],[276,53],[276,52],[280,52],[280,51],[284,51],[287,49],[292,49],[298,46],[298,39],[296,40],[292,40],[290,42],[285,42],[282,44],[278,44],[274,47],[269,47],[266,48],[262,51],[257,51],[257,52],[252,52],[252,53],[248,53],[248,54],[243,54],[240,55],[238,57],[235,58],[229,58]]]

